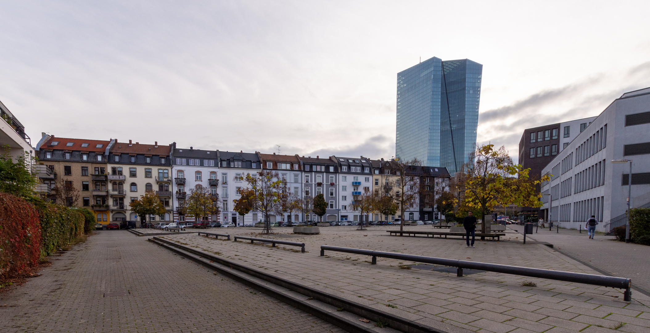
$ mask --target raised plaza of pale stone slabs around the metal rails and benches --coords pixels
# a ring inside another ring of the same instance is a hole
[[[459,278],[456,274],[413,268],[410,262],[378,258],[377,265],[370,265],[367,256],[339,252],[319,256],[320,245],[333,245],[600,274],[548,246],[522,245],[522,235],[514,232],[508,233],[504,241],[477,241],[476,248],[466,248],[461,239],[398,237],[385,232],[395,228],[374,226],[357,231],[356,227],[324,227],[320,235],[294,235],[290,228],[276,228],[277,234],[268,236],[304,242],[304,254],[292,246],[272,248],[196,234],[164,237],[422,323],[443,321],[471,331],[496,333],[610,332],[614,328],[622,332],[650,331],[650,308],[644,305],[650,304],[650,297],[642,293],[634,293],[632,302],[624,302],[621,290],[607,287],[499,273]],[[227,231],[231,235],[260,237],[259,228]],[[523,287],[524,281],[537,286]]]

